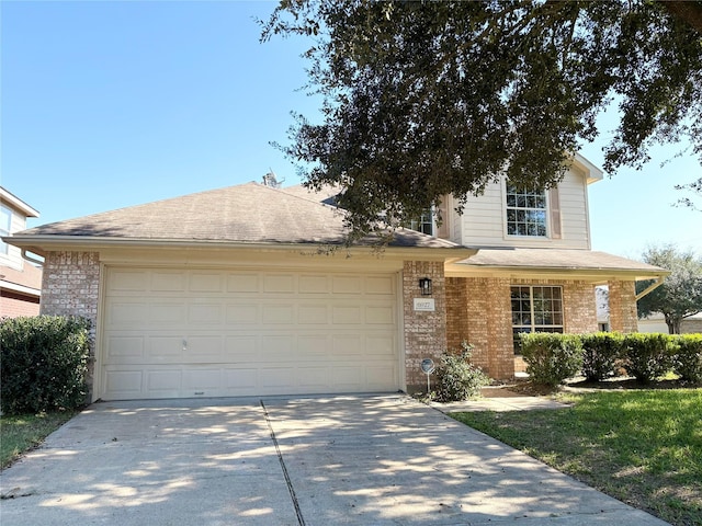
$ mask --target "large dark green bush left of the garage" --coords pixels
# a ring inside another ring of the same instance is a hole
[[[0,409],[5,414],[84,404],[90,322],[38,316],[0,321]]]

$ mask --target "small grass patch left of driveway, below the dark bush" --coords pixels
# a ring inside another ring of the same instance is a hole
[[[0,416],[0,469],[10,466],[24,451],[68,422],[76,411]]]

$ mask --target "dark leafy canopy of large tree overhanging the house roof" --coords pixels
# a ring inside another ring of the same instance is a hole
[[[321,122],[296,115],[281,148],[360,232],[500,174],[557,183],[612,100],[605,170],[683,137],[702,157],[701,1],[283,0],[261,24],[310,37]]]

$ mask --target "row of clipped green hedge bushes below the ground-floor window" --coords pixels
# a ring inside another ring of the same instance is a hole
[[[581,374],[599,381],[620,369],[648,382],[672,371],[682,381],[702,382],[702,334],[597,332],[521,334],[526,373],[556,386]]]

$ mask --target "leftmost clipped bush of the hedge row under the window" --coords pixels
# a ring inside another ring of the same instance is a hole
[[[582,342],[577,334],[520,334],[526,373],[535,384],[555,387],[582,369]]]

